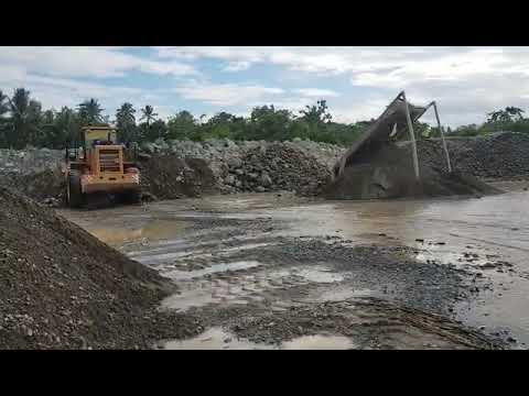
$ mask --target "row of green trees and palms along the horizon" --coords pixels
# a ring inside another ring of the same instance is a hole
[[[25,88],[17,88],[11,96],[0,90],[0,147],[23,148],[28,145],[64,148],[79,136],[85,125],[115,125],[120,142],[153,142],[165,140],[207,139],[285,141],[294,138],[309,139],[349,145],[359,133],[375,120],[350,124],[334,122],[325,100],[306,106],[294,113],[277,109],[273,105],[255,107],[249,117],[218,112],[207,121],[205,116],[195,118],[182,110],[166,120],[159,118],[155,109],[147,105],[137,111],[129,103],[122,103],[115,112],[115,119],[104,116],[105,109],[97,99],[88,99],[76,108],[43,110],[42,105],[31,98]],[[529,119],[523,111],[508,107],[492,112],[481,125],[463,125],[447,130],[453,135],[479,135],[498,130],[529,132]],[[419,138],[438,136],[439,130],[418,122]]]

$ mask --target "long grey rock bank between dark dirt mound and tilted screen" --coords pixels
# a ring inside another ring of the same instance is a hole
[[[147,153],[204,160],[222,194],[292,190],[314,195],[326,182],[344,147],[301,139],[287,142],[208,140],[163,141],[142,146]]]

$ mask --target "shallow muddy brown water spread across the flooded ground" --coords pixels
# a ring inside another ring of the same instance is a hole
[[[163,201],[141,210],[123,207],[63,213],[120,249],[129,241],[148,241],[139,250],[134,245],[136,251],[130,251],[130,255],[155,265],[177,261],[184,254],[193,257],[202,254],[202,258],[207,260],[209,253],[201,252],[198,234],[188,240],[184,238],[188,219],[196,217],[283,220],[287,229],[274,231],[282,235],[338,235],[353,244],[403,244],[415,249],[418,260],[435,261],[436,265],[465,263],[464,254],[471,253],[478,255],[472,265],[479,270],[478,265],[495,256],[512,263],[517,274],[481,270],[493,280],[494,288],[479,294],[474,302],[462,302],[457,316],[465,324],[485,327],[487,332],[509,329],[516,339],[529,343],[529,191],[518,189],[481,199],[392,201],[311,201],[261,194]],[[250,248],[253,237],[247,235]],[[222,249],[218,254],[223,254]],[[240,270],[239,265],[242,271],[260,267],[257,262],[227,263],[225,268],[210,267],[202,272]],[[278,271],[266,276],[250,273],[237,284],[202,279],[180,268],[172,271],[172,275],[181,279],[182,295],[173,296],[164,305],[181,310],[212,301],[245,304],[259,298],[256,292],[273,288],[292,277],[293,285],[312,282],[339,286],[341,280],[338,274],[327,273],[324,267],[314,267],[312,272],[291,268],[288,274]],[[168,274],[171,275],[169,268]],[[369,290],[339,289],[338,286],[325,296],[307,298],[333,300],[369,295]],[[281,309],[279,301],[276,308]]]

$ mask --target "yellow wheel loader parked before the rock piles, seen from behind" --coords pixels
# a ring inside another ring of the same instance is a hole
[[[139,202],[140,172],[134,160],[134,150],[117,143],[116,129],[83,128],[80,142],[74,142],[73,148],[66,147],[64,173],[68,206],[80,208],[112,198]]]

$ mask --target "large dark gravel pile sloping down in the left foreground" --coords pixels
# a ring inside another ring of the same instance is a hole
[[[145,349],[193,334],[174,286],[51,209],[0,187],[0,349]]]

